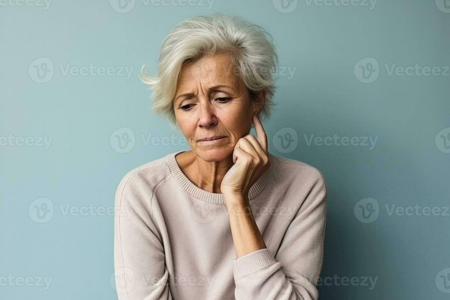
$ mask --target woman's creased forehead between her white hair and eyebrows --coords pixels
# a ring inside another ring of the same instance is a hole
[[[231,57],[226,54],[207,56],[193,63],[185,63],[181,68],[175,96],[192,92],[199,85],[202,89],[215,85],[229,85],[240,89],[243,81],[235,70]]]

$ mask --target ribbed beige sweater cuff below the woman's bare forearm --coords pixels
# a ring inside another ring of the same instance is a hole
[[[260,249],[232,260],[234,280],[239,280],[250,273],[275,264],[275,260],[269,249]]]

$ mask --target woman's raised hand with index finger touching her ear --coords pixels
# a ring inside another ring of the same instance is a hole
[[[234,165],[225,174],[220,184],[220,191],[224,198],[227,195],[240,195],[248,200],[248,191],[252,185],[269,169],[266,131],[256,114],[253,115],[252,122],[257,138],[253,134],[247,134],[234,146]]]

